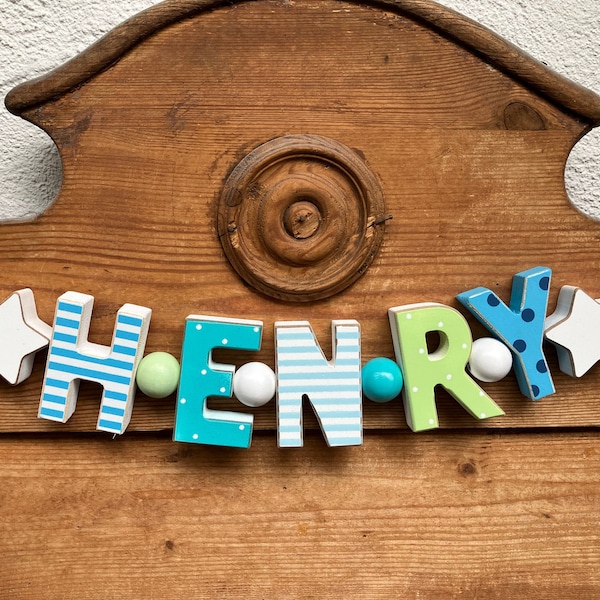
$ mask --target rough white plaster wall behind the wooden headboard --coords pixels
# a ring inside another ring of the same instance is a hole
[[[0,96],[87,48],[153,0],[0,0]],[[600,0],[441,0],[570,79],[600,93]],[[51,140],[0,108],[0,220],[43,212],[60,189]],[[566,172],[574,204],[600,219],[600,128]]]

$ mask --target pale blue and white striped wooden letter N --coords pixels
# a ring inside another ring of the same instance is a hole
[[[328,361],[306,321],[275,323],[279,447],[303,445],[307,400],[329,446],[362,444],[360,325],[333,321]]]

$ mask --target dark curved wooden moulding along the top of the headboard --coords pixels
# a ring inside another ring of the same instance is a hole
[[[254,0],[166,0],[125,21],[61,67],[11,90],[6,107],[21,115],[83,85],[156,31],[200,12],[249,1]],[[600,96],[468,17],[432,0],[375,0],[368,4],[421,21],[564,109],[600,125]]]

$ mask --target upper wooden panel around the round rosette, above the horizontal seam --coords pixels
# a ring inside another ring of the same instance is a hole
[[[192,5],[198,10],[189,12]],[[357,319],[363,359],[392,357],[388,308],[459,308],[456,294],[479,285],[508,301],[513,275],[537,265],[554,271],[550,310],[561,285],[600,297],[600,225],[580,215],[564,190],[567,156],[595,124],[595,96],[578,96],[577,86],[563,82],[592,112],[560,104],[539,80],[533,86],[501,63],[540,65],[436,6],[169,2],[102,42],[117,54],[101,68],[92,59],[104,50],[95,50],[15,91],[22,100],[42,94],[18,110],[55,140],[64,181],[37,221],[2,226],[0,295],[32,287],[40,316],[52,322],[60,294],[92,294],[91,339],[104,345],[122,304],[148,306],[147,351],[176,356],[188,314],[261,319],[263,349],[223,359],[271,366],[275,321],[309,319],[329,354],[331,320]],[[471,31],[471,45],[450,35],[455,27]],[[488,42],[496,61],[484,51]],[[83,79],[65,87],[63,76]],[[51,92],[53,81],[60,90]],[[545,81],[560,87],[550,75]],[[219,241],[217,205],[227,176],[251,150],[307,133],[359,153],[394,218],[382,225],[381,249],[354,285],[324,301],[286,303],[235,273]],[[558,371],[553,349],[548,355],[557,394],[531,404],[512,377],[486,386],[507,413],[486,426],[598,424],[600,372],[574,380]],[[43,359],[22,386],[0,383],[1,431],[57,431],[35,418]],[[60,430],[93,430],[98,399],[97,389],[84,386]],[[443,394],[440,405],[443,427],[479,426]],[[235,401],[219,406],[242,410]],[[173,413],[172,398],[138,394],[131,429],[170,429]],[[257,428],[273,428],[272,406],[256,415]],[[404,427],[399,403],[367,403],[365,426]]]

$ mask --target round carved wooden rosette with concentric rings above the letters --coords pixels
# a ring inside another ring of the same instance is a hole
[[[383,239],[383,193],[359,155],[316,135],[276,138],[231,172],[218,232],[237,273],[293,302],[321,300],[356,281]]]

